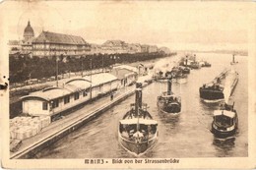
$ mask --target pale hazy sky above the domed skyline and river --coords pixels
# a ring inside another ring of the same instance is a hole
[[[4,2],[10,39],[49,30],[90,43],[122,39],[170,49],[245,49],[250,5],[245,2],[35,1]]]

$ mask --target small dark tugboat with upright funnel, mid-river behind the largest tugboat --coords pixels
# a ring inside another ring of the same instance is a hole
[[[181,111],[181,99],[171,91],[171,81],[170,77],[167,82],[167,91],[162,92],[158,97],[158,107],[163,114],[177,116]]]

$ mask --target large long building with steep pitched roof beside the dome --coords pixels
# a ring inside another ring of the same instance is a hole
[[[33,56],[82,56],[90,51],[90,44],[81,36],[42,31],[32,41]]]

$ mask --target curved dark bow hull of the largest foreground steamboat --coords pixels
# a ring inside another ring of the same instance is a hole
[[[147,141],[147,142],[132,142],[129,141],[125,138],[123,138],[120,134],[118,135],[118,141],[120,143],[120,145],[126,149],[127,151],[131,152],[132,154],[136,155],[136,156],[140,156],[144,153],[147,152],[147,150],[149,150],[150,148],[152,148],[155,143],[158,141],[157,140],[157,134],[155,135],[154,138],[152,138],[151,140]]]

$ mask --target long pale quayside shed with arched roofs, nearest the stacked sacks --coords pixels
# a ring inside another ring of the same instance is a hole
[[[53,116],[116,90],[120,81],[109,73],[73,79],[60,86],[45,88],[22,97],[23,113]]]

